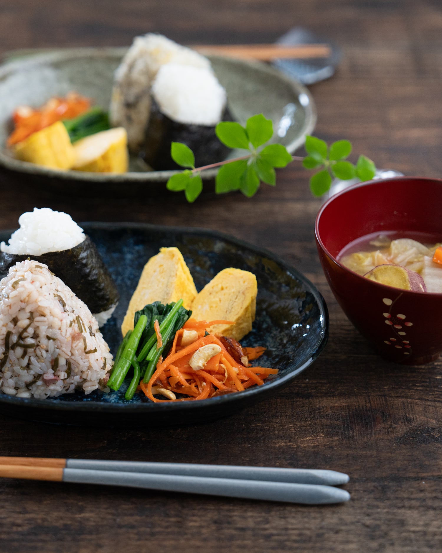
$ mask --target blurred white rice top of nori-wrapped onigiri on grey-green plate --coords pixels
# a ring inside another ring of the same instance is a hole
[[[162,65],[152,96],[161,112],[178,123],[215,126],[223,116],[227,95],[212,71],[176,63]]]

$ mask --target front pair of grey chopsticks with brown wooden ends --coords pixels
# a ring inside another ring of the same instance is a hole
[[[289,503],[341,503],[350,499],[342,472],[271,467],[0,457],[0,477],[104,484],[169,492],[223,495]]]

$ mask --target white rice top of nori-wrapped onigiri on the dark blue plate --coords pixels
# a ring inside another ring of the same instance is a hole
[[[48,252],[62,252],[86,238],[83,229],[62,211],[42,207],[23,213],[19,217],[20,228],[8,240],[2,242],[0,250],[10,254],[42,255]]]

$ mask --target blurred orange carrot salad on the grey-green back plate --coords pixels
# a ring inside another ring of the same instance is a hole
[[[7,145],[22,142],[36,131],[41,131],[61,119],[73,119],[90,107],[91,101],[76,92],[70,92],[65,98],[51,98],[39,109],[19,106],[12,116],[15,128],[8,138]]]

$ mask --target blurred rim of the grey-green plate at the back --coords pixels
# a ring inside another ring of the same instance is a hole
[[[121,57],[128,50],[126,46],[117,46],[117,47],[98,47],[98,48],[56,48],[50,51],[41,51],[35,49],[25,50],[23,58],[14,59],[14,52],[17,52],[16,55],[19,55],[20,50],[7,51],[3,54],[3,63],[0,65],[0,81],[6,79],[9,75],[17,71],[23,71],[29,67],[34,67],[36,65],[44,65],[50,62],[62,61],[64,59],[75,59],[75,58],[93,58],[93,57]],[[217,56],[211,55],[206,56],[209,59],[228,59],[229,62],[236,65],[247,65],[249,67],[254,67],[262,72],[266,72],[269,75],[278,77],[282,81],[285,81],[298,96],[301,93],[304,93],[308,97],[308,104],[302,106],[306,113],[306,121],[301,129],[301,133],[298,138],[292,140],[290,144],[287,145],[287,150],[291,154],[295,152],[299,147],[301,147],[306,139],[307,134],[312,133],[317,122],[317,108],[313,99],[311,92],[307,87],[301,84],[301,82],[292,79],[291,77],[283,74],[281,71],[278,71],[270,65],[266,65],[263,62],[256,60],[239,60],[235,58],[229,58],[228,56]],[[10,60],[8,60],[8,58]],[[49,167],[44,167],[36,165],[33,163],[28,163],[27,161],[20,161],[14,159],[11,156],[4,153],[4,147],[0,149],[0,166],[3,166],[6,169],[18,172],[25,173],[37,176],[49,176],[65,180],[78,180],[86,182],[165,182],[172,175],[179,173],[178,170],[172,171],[146,171],[135,172],[128,171],[127,173],[122,174],[112,174],[112,173],[88,173],[86,171],[72,171],[72,170],[59,170],[51,169]],[[201,177],[203,180],[213,179],[218,173],[218,169],[208,169],[201,172]]]

